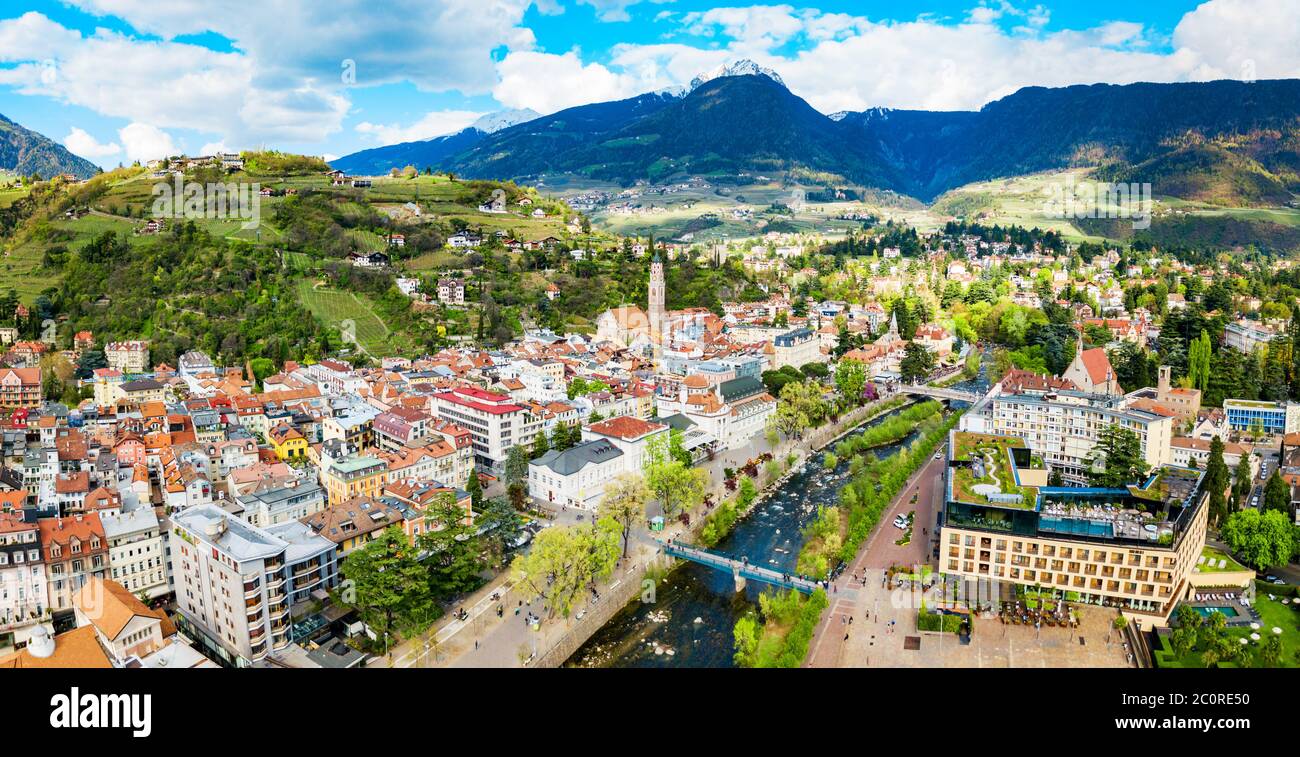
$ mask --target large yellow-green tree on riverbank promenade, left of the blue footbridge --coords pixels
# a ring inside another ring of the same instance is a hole
[[[619,561],[619,524],[602,518],[590,525],[546,528],[511,572],[528,601],[541,598],[550,617],[568,618],[595,583]]]

